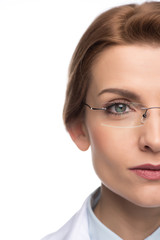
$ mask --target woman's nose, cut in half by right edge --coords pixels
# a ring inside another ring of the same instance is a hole
[[[149,111],[141,129],[139,147],[142,151],[160,153],[160,109]]]

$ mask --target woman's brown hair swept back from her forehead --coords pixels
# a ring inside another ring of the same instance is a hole
[[[128,4],[112,8],[89,26],[80,39],[69,67],[63,110],[64,123],[82,116],[91,78],[91,66],[107,46],[160,44],[160,2]]]

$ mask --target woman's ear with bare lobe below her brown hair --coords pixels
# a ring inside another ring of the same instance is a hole
[[[89,135],[83,120],[75,120],[70,123],[67,130],[77,147],[82,150],[88,150],[90,146]]]

